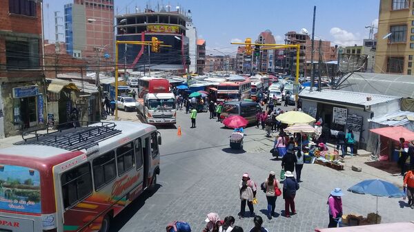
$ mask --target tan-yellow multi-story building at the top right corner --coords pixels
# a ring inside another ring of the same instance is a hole
[[[381,0],[375,72],[414,74],[413,1]]]

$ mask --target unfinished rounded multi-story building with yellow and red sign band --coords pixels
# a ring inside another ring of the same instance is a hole
[[[162,8],[159,12],[146,9],[144,12],[122,14],[116,16],[117,23],[126,19],[126,23],[117,26],[118,41],[151,41],[157,37],[164,45],[160,52],[150,51],[148,45],[119,45],[119,60],[124,61],[128,68],[135,70],[169,70],[184,73],[190,63],[189,39],[186,36],[186,22],[188,17],[179,10],[170,12]],[[196,43],[196,42],[195,42]]]

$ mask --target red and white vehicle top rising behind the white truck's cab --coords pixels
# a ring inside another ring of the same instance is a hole
[[[138,81],[138,97],[143,98],[145,94],[160,94],[170,92],[170,82],[164,78],[143,76]]]

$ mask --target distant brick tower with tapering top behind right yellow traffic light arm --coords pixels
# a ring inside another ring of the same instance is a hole
[[[271,43],[275,44],[275,37],[273,36],[272,32],[270,30],[265,30],[264,32],[261,32],[259,36],[257,37],[257,40],[255,43]],[[261,46],[262,48],[271,48],[274,46]],[[255,70],[259,72],[273,72],[274,71],[274,52],[275,50],[259,50],[259,56],[257,54],[253,54],[254,56],[254,65],[256,67]]]

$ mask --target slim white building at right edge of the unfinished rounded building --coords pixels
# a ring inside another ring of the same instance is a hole
[[[190,67],[191,73],[197,72],[197,28],[191,18],[191,11],[188,10],[188,21],[186,22],[186,36],[188,37],[188,56],[190,56]]]

